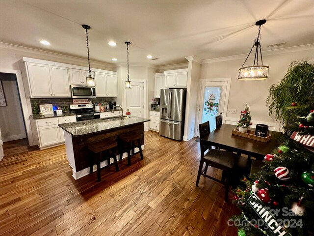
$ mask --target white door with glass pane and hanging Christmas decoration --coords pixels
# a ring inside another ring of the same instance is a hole
[[[223,113],[226,101],[227,81],[202,82],[199,104],[199,119],[197,125],[197,136],[199,136],[199,124],[209,120],[210,132],[216,128],[216,119]],[[226,116],[226,114],[222,114]]]

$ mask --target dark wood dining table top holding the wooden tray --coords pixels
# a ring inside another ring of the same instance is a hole
[[[246,154],[258,160],[263,160],[266,154],[271,153],[281,145],[281,141],[278,140],[278,138],[284,135],[282,132],[269,131],[269,134],[272,135],[271,140],[263,143],[232,134],[232,130],[234,129],[237,129],[235,125],[222,124],[202,140],[214,147]]]

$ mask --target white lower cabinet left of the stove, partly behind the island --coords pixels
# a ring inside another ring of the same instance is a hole
[[[59,117],[59,118],[43,118],[36,120],[39,148],[48,148],[56,146],[64,142],[64,130],[58,124],[75,122],[75,116]]]

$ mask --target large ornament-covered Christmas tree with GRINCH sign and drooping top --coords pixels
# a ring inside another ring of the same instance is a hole
[[[265,166],[243,179],[234,203],[238,236],[308,236],[314,233],[314,65],[292,62],[267,99],[291,139],[264,157]]]

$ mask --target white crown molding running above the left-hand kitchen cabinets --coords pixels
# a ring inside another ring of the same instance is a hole
[[[72,62],[86,63],[86,59],[83,59],[83,58],[68,56],[68,55],[64,55],[64,54],[60,54],[60,53],[48,52],[48,51],[44,51],[44,50],[40,50],[40,49],[27,48],[24,46],[18,46],[18,45],[9,44],[9,43],[0,42],[0,48],[5,48],[5,49],[9,49],[9,50],[17,50],[20,52],[32,53],[32,54],[37,54],[37,55],[41,55],[41,56],[53,57],[53,58],[55,58],[55,60],[58,60],[58,59],[65,60],[66,59],[66,60],[71,60]],[[91,62],[91,64],[93,64],[94,68],[96,68],[96,67],[97,68],[104,68],[104,66],[110,67],[110,68],[114,67],[114,64],[111,64],[111,63],[109,64],[109,63],[96,61],[96,60],[90,60],[90,62]]]

